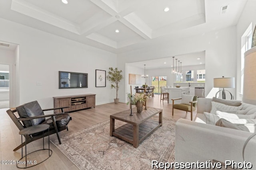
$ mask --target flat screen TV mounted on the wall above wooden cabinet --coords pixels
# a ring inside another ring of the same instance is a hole
[[[88,74],[59,71],[59,88],[88,88]]]

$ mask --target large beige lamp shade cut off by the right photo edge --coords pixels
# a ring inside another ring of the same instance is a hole
[[[256,105],[256,46],[244,53],[244,103]]]

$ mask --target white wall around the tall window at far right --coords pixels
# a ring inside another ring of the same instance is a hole
[[[247,0],[246,5],[244,6],[244,10],[239,18],[239,21],[236,25],[236,51],[237,51],[237,78],[236,78],[236,99],[242,100],[242,94],[240,93],[241,88],[241,57],[244,57],[244,55],[241,56],[241,37],[250,25],[252,23],[252,30],[254,30],[255,24],[256,24],[256,1],[254,0]],[[243,80],[242,80],[243,81]]]

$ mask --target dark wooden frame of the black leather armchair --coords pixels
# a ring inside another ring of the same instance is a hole
[[[68,131],[68,123],[66,124],[66,126],[64,127],[60,127],[58,128],[57,125],[56,125],[56,119],[55,119],[55,116],[57,115],[63,115],[63,114],[68,114],[68,113],[65,113],[63,111],[64,108],[68,108],[68,107],[59,107],[59,108],[52,108],[52,109],[43,109],[42,111],[48,111],[48,110],[55,110],[55,109],[61,109],[62,113],[53,113],[53,114],[48,114],[48,115],[40,115],[40,116],[34,116],[34,117],[26,117],[26,118],[18,118],[16,117],[16,115],[14,114],[15,112],[17,112],[16,109],[14,110],[11,110],[11,109],[8,109],[6,112],[8,113],[8,115],[10,116],[10,118],[12,119],[12,121],[15,123],[15,125],[18,127],[18,129],[21,131],[22,129],[25,129],[25,127],[22,125],[21,121],[24,121],[24,120],[31,120],[31,119],[38,119],[38,118],[44,118],[44,117],[52,117],[52,123],[54,125],[54,129],[51,129],[49,131],[49,135],[52,135],[54,133],[56,133],[57,137],[58,137],[58,141],[59,143],[61,144],[61,140],[60,140],[60,136],[58,134],[59,131],[63,131],[65,129],[67,129]],[[70,120],[72,120],[72,118],[70,117]],[[48,133],[44,133],[42,135],[38,135],[38,136],[31,136],[31,135],[26,135],[26,143],[30,143],[32,141],[36,141],[37,139],[40,139],[42,137],[46,137],[48,136]],[[25,142],[23,142],[22,144],[20,144],[18,147],[16,147],[13,151],[16,151],[20,148],[22,148],[23,146],[25,146]]]

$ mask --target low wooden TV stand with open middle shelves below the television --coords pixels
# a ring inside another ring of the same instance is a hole
[[[54,99],[54,108],[55,107],[66,107],[64,111],[76,111],[80,109],[85,109],[88,107],[95,108],[95,95],[96,94],[80,94],[74,96],[59,96],[53,97]],[[60,113],[61,110],[54,110],[54,113]]]

